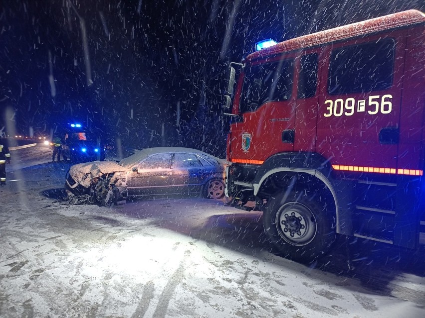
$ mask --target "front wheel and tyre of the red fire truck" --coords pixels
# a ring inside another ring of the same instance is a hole
[[[263,213],[265,233],[283,257],[312,263],[336,240],[334,211],[328,211],[332,206],[304,189],[278,193]]]

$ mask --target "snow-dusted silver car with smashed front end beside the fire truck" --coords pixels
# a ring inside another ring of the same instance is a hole
[[[86,195],[100,205],[128,197],[224,196],[227,161],[190,148],[158,147],[137,151],[119,161],[76,164],[66,174],[68,197]]]

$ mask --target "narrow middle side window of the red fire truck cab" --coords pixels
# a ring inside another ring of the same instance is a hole
[[[306,99],[316,95],[317,87],[317,53],[307,54],[300,59],[298,74],[298,99]]]

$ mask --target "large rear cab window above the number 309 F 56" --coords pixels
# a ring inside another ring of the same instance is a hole
[[[387,38],[333,50],[329,62],[329,94],[390,88],[393,84],[394,47],[394,40]]]

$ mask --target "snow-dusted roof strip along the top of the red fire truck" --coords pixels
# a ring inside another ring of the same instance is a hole
[[[286,40],[249,54],[244,59],[244,62],[421,22],[425,22],[425,14],[423,12],[418,10],[402,11]]]

